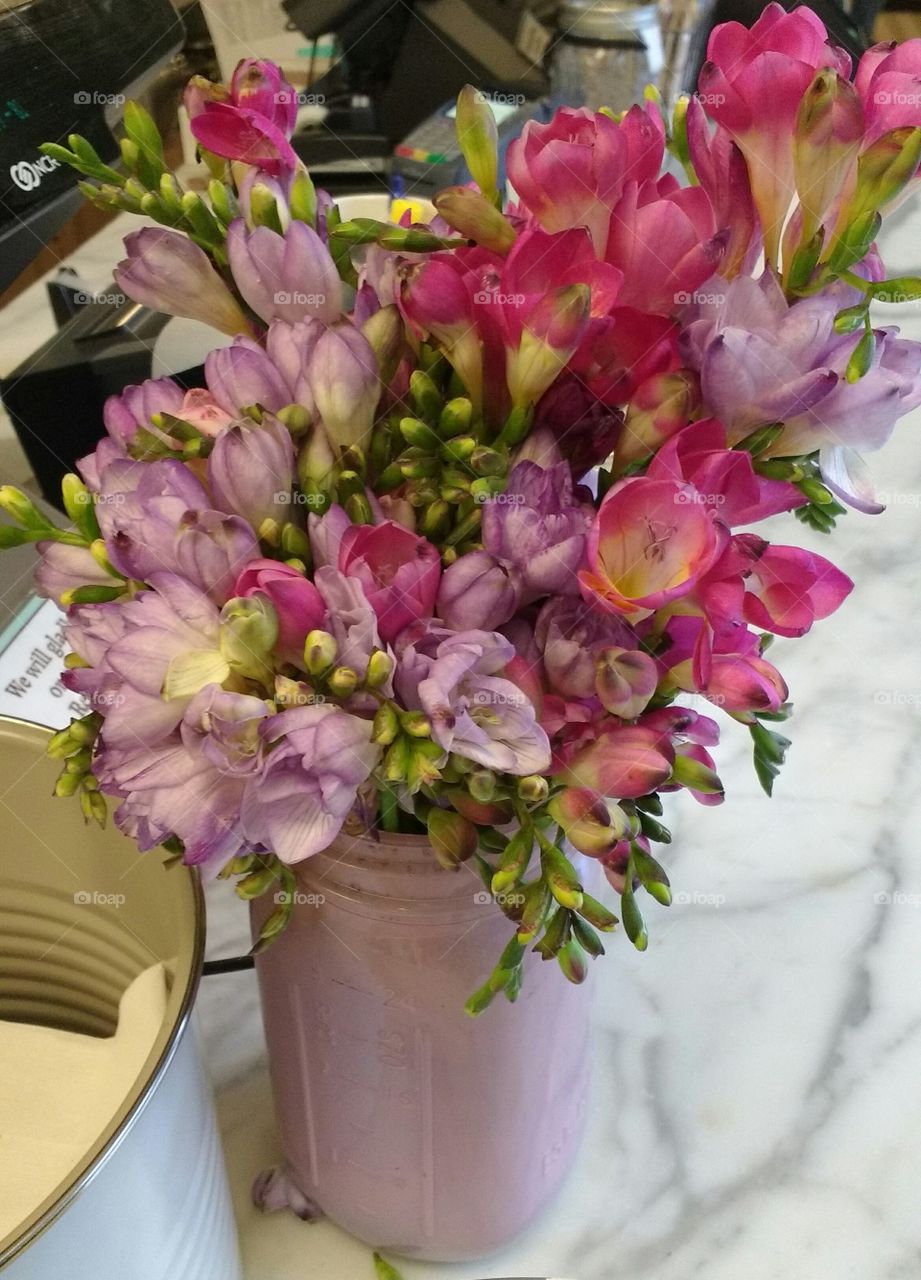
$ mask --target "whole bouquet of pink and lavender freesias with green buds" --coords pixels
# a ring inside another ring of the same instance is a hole
[[[617,920],[572,849],[645,947],[663,794],[723,799],[702,700],[770,791],[769,643],[852,586],[750,526],[880,509],[861,454],[921,403],[921,347],[870,314],[921,297],[875,248],[918,179],[920,68],[921,41],[878,46],[852,81],[810,10],[769,5],[714,32],[670,119],[651,95],[526,125],[508,201],[467,88],[473,180],[425,225],[342,219],[265,63],[187,91],[206,195],[136,106],[120,170],[49,145],[159,224],[127,238],[125,293],[233,335],[206,388],[109,401],[70,527],[0,493],[90,708],[51,740],[58,792],[243,897],[280,887],[257,946],[340,831],[427,833],[510,922],[471,1011],[514,998],[530,947],[572,982],[601,954]]]

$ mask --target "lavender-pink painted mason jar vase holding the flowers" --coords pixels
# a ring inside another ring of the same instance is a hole
[[[292,923],[257,960],[288,1178],[375,1247],[484,1257],[569,1169],[590,984],[531,956],[517,1004],[468,1018],[508,937],[476,873],[443,870],[423,837],[342,836],[298,867]]]

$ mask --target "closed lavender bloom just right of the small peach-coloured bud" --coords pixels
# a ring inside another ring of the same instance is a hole
[[[228,426],[207,461],[215,507],[242,516],[257,532],[266,520],[288,520],[293,480],[290,431],[271,415],[261,424],[243,419]]]

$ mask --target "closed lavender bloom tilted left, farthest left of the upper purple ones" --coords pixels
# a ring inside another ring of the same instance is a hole
[[[128,257],[115,268],[115,280],[129,298],[170,316],[201,320],[221,333],[247,332],[233,293],[207,253],[187,236],[145,227],[125,236],[124,244]]]

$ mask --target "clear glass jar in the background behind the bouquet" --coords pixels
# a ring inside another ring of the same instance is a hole
[[[655,4],[627,0],[564,0],[550,61],[555,104],[626,111],[642,101],[663,72],[663,40]]]

